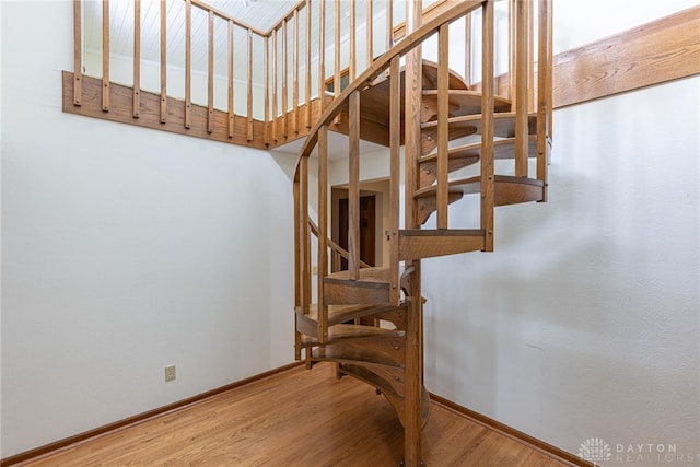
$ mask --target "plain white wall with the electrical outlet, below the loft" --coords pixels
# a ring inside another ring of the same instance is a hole
[[[292,361],[280,165],[63,114],[70,1],[3,1],[1,31],[0,455]]]

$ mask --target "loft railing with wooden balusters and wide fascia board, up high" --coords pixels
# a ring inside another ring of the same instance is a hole
[[[404,38],[409,2],[301,0],[261,31],[202,0],[73,0],[74,67],[65,109],[273,148],[306,136],[347,82]],[[456,3],[435,0],[423,10],[424,21]],[[516,4],[532,10],[533,2],[508,2]],[[508,16],[514,47],[517,25]],[[458,71],[471,84],[478,81],[469,58],[476,31],[471,15],[463,21],[466,59]],[[128,38],[130,49],[117,37]],[[527,47],[533,56],[532,38]],[[510,61],[497,70],[498,94],[514,95],[514,69]]]

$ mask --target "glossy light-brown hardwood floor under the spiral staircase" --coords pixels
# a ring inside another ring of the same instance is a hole
[[[23,466],[396,466],[404,431],[374,389],[331,364],[295,367]],[[429,467],[561,464],[432,402]]]

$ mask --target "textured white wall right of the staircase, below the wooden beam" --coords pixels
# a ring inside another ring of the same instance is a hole
[[[430,390],[573,453],[700,455],[699,87],[555,113],[550,201],[498,208],[492,254],[424,261]]]

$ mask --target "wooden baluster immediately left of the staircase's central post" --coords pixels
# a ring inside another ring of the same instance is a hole
[[[394,57],[389,68],[389,300],[398,305],[400,289],[398,284],[398,227],[399,227],[399,182],[401,170],[401,91],[400,58]]]

